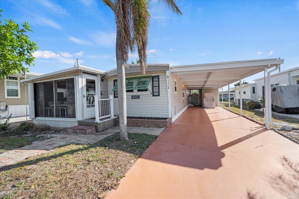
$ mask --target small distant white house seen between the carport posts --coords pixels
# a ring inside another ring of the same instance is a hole
[[[240,87],[236,86],[232,88],[235,91],[235,104],[239,105],[240,101]],[[256,99],[255,83],[243,84],[241,87],[242,100],[245,104],[248,100]]]

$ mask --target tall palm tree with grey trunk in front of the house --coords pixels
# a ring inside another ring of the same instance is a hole
[[[128,140],[125,65],[129,51],[137,48],[140,67],[143,74],[147,68],[147,29],[149,26],[148,0],[103,0],[115,14],[116,22],[116,65],[118,83],[118,106],[120,139]],[[176,14],[181,14],[175,0],[164,0],[164,3]]]

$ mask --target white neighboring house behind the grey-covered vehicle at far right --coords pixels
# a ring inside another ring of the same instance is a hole
[[[292,68],[280,73],[271,75],[271,86],[298,84],[296,79],[299,78],[299,67]],[[254,79],[256,85],[256,100],[265,96],[264,78]]]

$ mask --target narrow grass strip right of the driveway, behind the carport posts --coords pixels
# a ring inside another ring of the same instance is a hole
[[[228,108],[228,102],[223,103],[225,108]],[[220,106],[222,107],[222,102],[220,102]],[[242,107],[242,113],[243,115],[250,117],[251,119],[254,119],[258,122],[264,123],[264,112],[263,111],[257,111],[257,110],[250,110],[247,109],[246,105],[243,105]],[[240,106],[231,104],[231,111],[234,111],[236,113],[240,113]],[[272,121],[274,123],[282,123],[282,124],[291,124],[291,125],[296,125],[297,128],[299,128],[299,120],[294,118],[294,117],[287,117],[287,116],[282,116],[282,115],[275,115],[272,114]],[[272,126],[272,125],[270,125]],[[278,126],[275,126],[278,127]]]

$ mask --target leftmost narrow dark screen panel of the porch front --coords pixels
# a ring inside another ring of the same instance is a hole
[[[34,85],[34,112],[36,117],[44,117],[44,86],[43,83]]]

